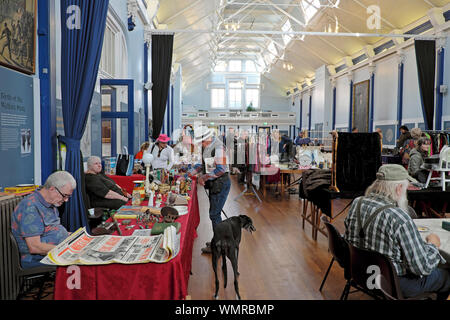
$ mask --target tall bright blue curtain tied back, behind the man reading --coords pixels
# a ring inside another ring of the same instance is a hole
[[[69,231],[84,226],[89,229],[82,196],[80,140],[97,81],[108,3],[109,0],[61,0],[61,91],[65,133],[61,140],[67,146],[65,169],[77,181],[77,188],[62,216],[62,223]]]

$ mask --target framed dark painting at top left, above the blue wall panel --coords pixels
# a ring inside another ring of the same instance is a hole
[[[35,72],[36,0],[0,1],[0,65]]]

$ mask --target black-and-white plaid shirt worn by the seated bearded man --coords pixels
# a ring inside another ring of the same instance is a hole
[[[359,237],[361,226],[358,224],[356,207],[360,199],[361,223],[367,221],[377,208],[395,205],[381,211],[364,230],[365,237]],[[429,275],[437,265],[445,263],[439,250],[432,244],[425,243],[417,230],[414,221],[406,211],[399,208],[396,202],[380,194],[355,199],[344,221],[344,238],[352,245],[379,252],[387,256],[397,275],[414,274]]]

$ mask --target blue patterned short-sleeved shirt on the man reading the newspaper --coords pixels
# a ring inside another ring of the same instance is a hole
[[[69,236],[61,225],[58,209],[37,191],[25,197],[14,210],[11,229],[16,238],[22,262],[40,261],[44,256],[31,254],[25,238],[41,237],[41,242],[57,245]]]

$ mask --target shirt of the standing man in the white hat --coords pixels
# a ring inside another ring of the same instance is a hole
[[[203,159],[208,159],[212,157],[212,153],[214,150],[214,170],[210,173],[207,173],[205,178],[206,180],[213,180],[224,173],[228,172],[228,161],[227,154],[225,151],[225,147],[223,143],[218,140],[216,137],[213,138],[212,142],[203,150]],[[191,174],[197,174],[203,170],[203,163],[194,164],[192,167],[189,165],[189,172]]]

